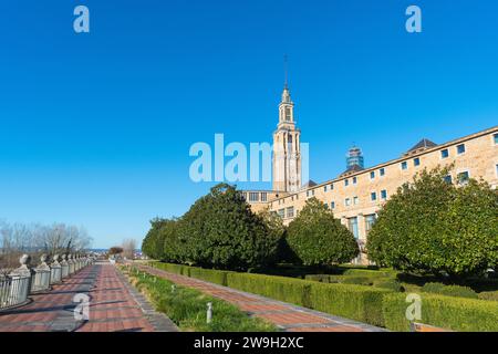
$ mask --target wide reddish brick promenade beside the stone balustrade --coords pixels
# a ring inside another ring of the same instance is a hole
[[[90,321],[74,319],[75,294],[90,296]],[[30,295],[28,305],[0,312],[0,332],[153,332],[177,331],[110,263],[96,263],[54,285]]]

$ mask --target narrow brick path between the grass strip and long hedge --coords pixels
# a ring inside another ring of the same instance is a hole
[[[141,270],[165,278],[177,284],[197,289],[211,296],[237,305],[240,310],[270,323],[284,332],[381,332],[384,329],[333,316],[326,313],[276,301],[260,295],[221,287],[207,281],[166,272],[148,266]]]

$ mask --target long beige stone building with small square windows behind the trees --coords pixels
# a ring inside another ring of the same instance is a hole
[[[281,122],[280,117],[279,127]],[[297,136],[299,142],[299,134]],[[353,148],[353,152],[357,157],[357,149]],[[284,181],[273,184],[274,190],[243,192],[253,211],[269,208],[270,211],[277,212],[286,225],[295,218],[307,199],[315,197],[333,210],[335,218],[341,219],[363,247],[378,210],[398,187],[413,180],[415,174],[424,168],[432,169],[450,164],[454,164],[454,169],[447,176],[448,181],[464,184],[468,178],[484,179],[496,188],[498,126],[439,145],[422,139],[400,158],[367,168],[349,164],[343,174],[321,184],[310,181],[300,188],[291,188],[291,185]],[[277,174],[282,174],[284,168],[284,165],[273,165],[273,174],[276,169]],[[300,170],[298,174],[300,175]],[[294,178],[300,180],[300,176]],[[365,261],[365,254],[356,260],[362,263]]]

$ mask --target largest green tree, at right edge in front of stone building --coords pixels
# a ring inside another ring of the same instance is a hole
[[[498,192],[473,179],[445,181],[450,168],[424,170],[398,188],[369,233],[370,259],[454,279],[497,267]]]

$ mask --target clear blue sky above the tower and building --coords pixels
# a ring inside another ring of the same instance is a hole
[[[90,34],[73,31],[77,4]],[[405,31],[409,4],[421,34]],[[284,53],[317,181],[353,142],[371,166],[494,126],[497,13],[495,0],[1,1],[0,218],[141,241],[208,191],[188,177],[193,143],[270,142]]]

